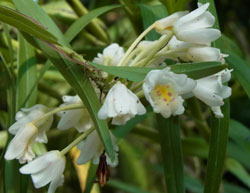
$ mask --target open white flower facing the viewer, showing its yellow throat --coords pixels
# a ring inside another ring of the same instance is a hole
[[[196,82],[185,74],[175,74],[170,68],[150,71],[143,84],[146,99],[154,109],[165,118],[184,112],[181,95],[191,92]]]

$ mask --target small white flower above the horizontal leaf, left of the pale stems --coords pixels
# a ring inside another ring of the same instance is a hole
[[[113,43],[103,50],[103,53],[97,54],[93,62],[97,64],[116,66],[124,56],[124,49],[118,44]]]

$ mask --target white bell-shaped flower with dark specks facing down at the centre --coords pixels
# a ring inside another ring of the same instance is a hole
[[[99,119],[113,118],[112,124],[123,125],[135,115],[146,113],[138,97],[127,87],[117,82],[108,92],[98,112]]]

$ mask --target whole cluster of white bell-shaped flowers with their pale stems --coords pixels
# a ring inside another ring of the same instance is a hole
[[[200,4],[190,13],[177,12],[160,19],[152,25],[152,29],[162,34],[158,40],[135,41],[126,53],[118,44],[111,44],[103,53],[99,53],[93,62],[106,66],[138,67],[159,67],[167,58],[184,62],[224,63],[226,55],[211,47],[211,43],[218,39],[221,33],[212,28],[215,19],[208,7],[208,3]],[[100,99],[103,99],[97,116],[102,120],[112,119],[113,125],[124,125],[136,115],[146,113],[146,108],[140,101],[141,97],[145,97],[155,113],[169,118],[183,114],[185,99],[194,96],[210,106],[217,118],[222,118],[220,107],[224,104],[223,100],[231,95],[231,88],[225,85],[231,78],[231,71],[224,69],[194,80],[185,74],[174,73],[167,66],[164,69],[151,70],[143,82],[136,84],[127,84],[128,80],[124,79],[117,81],[108,73],[103,73],[102,78],[107,80],[110,89],[104,98],[102,92],[97,92]],[[21,167],[20,172],[30,174],[36,188],[50,183],[48,192],[53,193],[64,181],[65,151],[49,151],[34,159],[36,154],[32,149],[37,142],[47,143],[46,132],[52,126],[54,114],[60,117],[57,124],[59,130],[75,128],[82,133],[81,136],[86,137],[77,143],[72,142],[81,151],[78,164],[85,164],[90,160],[99,164],[101,157],[105,157],[105,162],[112,167],[118,164],[119,148],[112,132],[109,131],[116,153],[114,160],[105,153],[98,132],[93,131],[94,124],[80,97],[63,96],[63,104],[57,109],[50,110],[40,104],[21,109],[16,114],[16,122],[9,128],[9,132],[15,136],[9,143],[5,159],[28,162]]]

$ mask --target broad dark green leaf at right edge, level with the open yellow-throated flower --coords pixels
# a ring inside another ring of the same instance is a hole
[[[250,97],[250,66],[245,60],[233,52],[227,52],[229,56],[226,58],[229,66],[234,70],[233,75],[240,82],[248,97]]]

